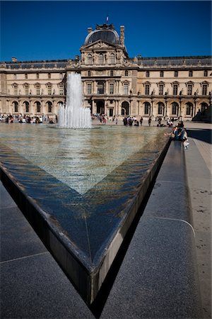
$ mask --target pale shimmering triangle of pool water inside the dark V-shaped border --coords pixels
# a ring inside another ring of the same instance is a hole
[[[67,130],[47,125],[2,123],[0,134],[1,142],[80,194],[93,189],[132,155],[134,164],[138,156],[140,160],[143,157],[142,163],[149,164],[153,153],[158,147],[160,149],[158,140],[164,142],[167,139],[161,128],[128,128],[124,125]],[[149,152],[153,152],[151,157],[146,153],[141,155],[146,145]],[[23,174],[25,169],[23,167]],[[118,179],[116,174],[116,181],[105,185],[105,190],[114,191]]]

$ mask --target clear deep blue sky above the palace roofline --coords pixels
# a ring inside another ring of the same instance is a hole
[[[211,1],[1,1],[1,61],[80,54],[107,15],[129,57],[211,55]]]

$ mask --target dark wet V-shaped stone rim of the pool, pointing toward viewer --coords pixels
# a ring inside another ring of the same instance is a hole
[[[169,145],[164,140],[157,152],[146,145],[141,161],[139,154],[127,159],[83,196],[1,145],[1,181],[86,303],[95,300]]]

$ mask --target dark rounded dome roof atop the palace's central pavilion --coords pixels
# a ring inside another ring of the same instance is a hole
[[[116,30],[114,30],[114,26],[103,24],[102,26],[97,26],[95,30],[88,33],[85,45],[90,43],[94,43],[95,41],[102,40],[107,43],[119,44],[119,35]]]

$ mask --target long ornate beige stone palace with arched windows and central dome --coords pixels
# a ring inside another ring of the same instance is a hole
[[[211,106],[211,56],[131,58],[124,26],[118,35],[107,24],[88,28],[80,51],[74,60],[1,62],[0,113],[57,114],[69,72],[81,73],[92,113],[191,120]]]

